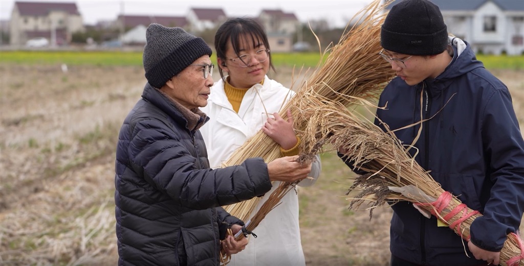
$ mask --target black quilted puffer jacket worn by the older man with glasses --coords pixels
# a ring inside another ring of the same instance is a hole
[[[219,206],[269,191],[267,165],[254,158],[209,169],[198,131],[208,118],[200,112],[190,130],[188,119],[158,89],[147,84],[142,98],[118,136],[118,264],[217,265],[225,223],[242,224]]]

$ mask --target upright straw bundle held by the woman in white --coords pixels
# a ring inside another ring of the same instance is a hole
[[[297,94],[281,109],[280,114],[283,117],[288,109],[291,110],[294,117],[293,128],[299,137],[307,119],[299,115],[298,105],[307,104],[308,98],[312,97],[312,92],[345,105],[348,102],[343,95],[377,97],[383,84],[393,77],[391,66],[377,55],[381,50],[380,26],[385,18],[383,13],[385,6],[385,4],[381,5],[380,1],[374,1],[355,15],[353,21],[359,23],[344,33],[340,42],[334,45],[331,51],[328,50],[321,54],[322,59],[324,54],[330,52],[324,64],[311,75],[311,79],[301,83],[299,89],[296,89]],[[236,149],[233,155],[222,164],[222,167],[241,164],[250,157],[263,157],[265,161],[271,161],[280,156],[278,144],[259,131]],[[282,184],[283,188],[275,191],[276,196],[280,194],[281,198],[289,191],[289,185]],[[259,198],[254,198],[224,206],[224,209],[243,221],[248,221],[249,215],[252,214],[259,200]],[[271,202],[272,204],[278,203],[272,200]],[[264,217],[274,206],[268,206],[266,210],[257,215]],[[261,218],[252,219],[249,230],[258,225],[256,221],[261,221]]]

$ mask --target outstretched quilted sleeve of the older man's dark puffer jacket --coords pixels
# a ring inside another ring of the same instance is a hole
[[[143,173],[152,187],[182,206],[203,210],[228,205],[271,188],[267,165],[261,158],[222,169],[200,169],[199,149],[205,147],[198,147],[189,131],[172,130],[156,119],[141,119],[130,128],[130,165]]]

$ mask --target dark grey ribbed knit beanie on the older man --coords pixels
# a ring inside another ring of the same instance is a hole
[[[195,60],[213,53],[202,38],[182,28],[167,28],[153,23],[147,27],[142,56],[149,84],[160,88]]]

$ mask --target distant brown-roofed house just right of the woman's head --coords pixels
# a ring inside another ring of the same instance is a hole
[[[284,13],[280,9],[263,9],[258,20],[271,33],[293,34],[300,26],[300,21],[293,13]]]

